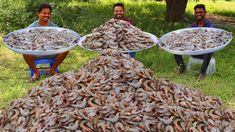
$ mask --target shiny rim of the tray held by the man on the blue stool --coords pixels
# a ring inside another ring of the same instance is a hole
[[[16,31],[13,31],[9,34],[7,34],[6,36],[8,35],[11,35],[12,33],[15,33],[15,32],[19,32],[19,33],[24,33],[24,32],[28,32],[29,30],[32,30],[32,29],[56,29],[58,30],[59,32],[60,31],[63,31],[63,30],[67,30],[68,32],[71,32],[79,41],[80,40],[80,35],[70,29],[66,29],[66,28],[60,28],[60,27],[30,27],[30,28],[25,28],[25,29],[21,29],[21,30],[16,30]],[[7,48],[9,48],[10,50],[16,52],[16,53],[19,53],[19,54],[27,54],[27,55],[38,55],[38,56],[44,56],[44,55],[54,55],[54,54],[59,54],[59,53],[63,53],[63,52],[66,52],[66,51],[69,51],[70,49],[74,48],[75,46],[77,46],[77,43],[74,43],[73,45],[69,46],[69,47],[66,47],[66,48],[61,48],[61,49],[58,49],[58,50],[46,50],[46,51],[38,51],[38,50],[22,50],[22,49],[16,49],[16,48],[13,48],[13,47],[10,47],[9,45],[7,45],[4,41],[4,37],[3,37],[3,43],[5,44],[5,46]]]

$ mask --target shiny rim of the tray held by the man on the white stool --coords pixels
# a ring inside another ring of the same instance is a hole
[[[175,30],[175,31],[172,31],[172,32],[169,32],[165,35],[163,35],[160,39],[159,39],[159,46],[164,49],[165,51],[169,52],[169,53],[172,53],[172,54],[178,54],[178,55],[201,55],[201,54],[207,54],[207,53],[212,53],[212,52],[216,52],[216,51],[219,51],[221,49],[223,49],[225,46],[227,46],[233,39],[233,36],[231,35],[230,36],[230,39],[229,41],[227,41],[225,44],[223,45],[220,45],[220,46],[217,46],[217,47],[214,47],[214,48],[207,48],[207,49],[201,49],[201,50],[195,50],[195,51],[192,51],[192,50],[187,50],[187,51],[180,51],[180,50],[171,50],[171,49],[168,49],[164,46],[161,45],[161,43],[164,42],[164,39],[171,35],[172,33],[179,33],[181,31],[185,31],[185,30],[195,30],[195,29],[198,29],[198,28],[201,28],[201,29],[207,29],[207,30],[212,30],[212,31],[223,31],[223,32],[227,32],[223,29],[218,29],[218,28],[208,28],[208,27],[197,27],[197,28],[184,28],[184,29],[179,29],[179,30]]]

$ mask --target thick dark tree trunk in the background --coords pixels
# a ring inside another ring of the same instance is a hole
[[[187,3],[188,0],[166,0],[166,21],[183,21]]]

